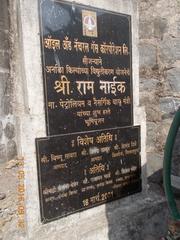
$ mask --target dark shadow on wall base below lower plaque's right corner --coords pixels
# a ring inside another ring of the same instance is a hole
[[[108,203],[106,215],[109,240],[156,240],[167,233],[169,212],[157,183],[153,190]]]

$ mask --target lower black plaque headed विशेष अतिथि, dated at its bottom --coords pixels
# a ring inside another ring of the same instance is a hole
[[[36,139],[42,222],[141,191],[140,128]]]

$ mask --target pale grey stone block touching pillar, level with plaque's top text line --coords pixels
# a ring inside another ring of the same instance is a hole
[[[152,68],[157,64],[156,47],[149,43],[141,43],[139,45],[140,67]]]

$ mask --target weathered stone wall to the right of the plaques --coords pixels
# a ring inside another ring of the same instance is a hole
[[[147,169],[162,168],[163,150],[180,106],[180,1],[139,0],[140,103],[147,114]]]

